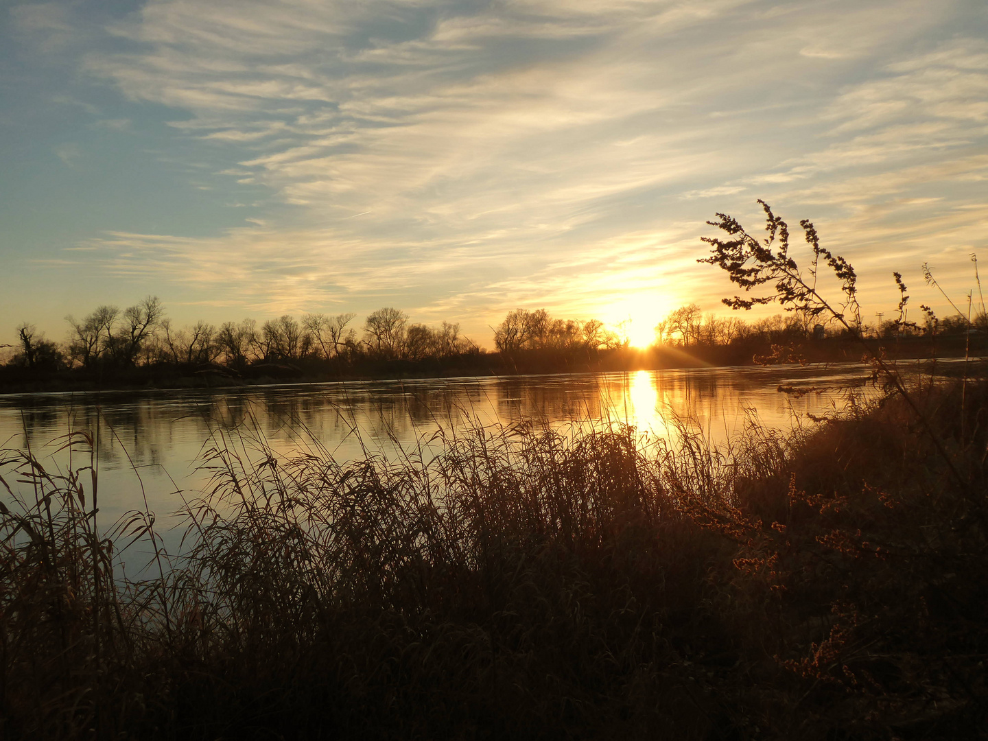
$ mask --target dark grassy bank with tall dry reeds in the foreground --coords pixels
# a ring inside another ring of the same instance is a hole
[[[62,476],[6,453],[0,735],[978,737],[986,396],[916,391],[933,436],[890,399],[729,455],[620,428],[342,464],[217,437],[188,557],[139,583],[112,564],[153,529],[94,532],[91,441]]]

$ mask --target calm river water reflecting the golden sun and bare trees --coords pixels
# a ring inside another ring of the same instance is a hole
[[[195,492],[205,481],[197,460],[209,435],[220,430],[247,426],[284,453],[317,442],[339,460],[365,451],[395,454],[439,427],[526,419],[560,426],[612,419],[675,435],[667,421],[678,416],[723,442],[746,414],[786,428],[807,413],[843,408],[846,390],[837,387],[866,375],[864,366],[841,364],[9,394],[0,395],[0,448],[30,445],[47,466],[64,466],[64,453],[56,453],[59,436],[96,430],[102,517],[109,522],[142,508],[146,496],[160,520],[181,506],[177,491]],[[794,396],[780,385],[814,390]]]

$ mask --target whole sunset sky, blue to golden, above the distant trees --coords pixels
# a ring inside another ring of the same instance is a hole
[[[0,343],[148,294],[640,331],[729,312],[700,237],[759,198],[851,261],[865,320],[895,270],[948,313],[923,263],[977,304],[988,3],[0,0]]]

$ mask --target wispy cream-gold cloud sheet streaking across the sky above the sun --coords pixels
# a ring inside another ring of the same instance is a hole
[[[401,303],[481,331],[616,292],[712,309],[703,221],[762,197],[884,275],[980,244],[985,30],[962,0],[150,0],[83,68],[270,199],[217,233],[80,243],[252,310]]]

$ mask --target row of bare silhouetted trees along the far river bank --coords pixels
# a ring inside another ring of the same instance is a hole
[[[222,366],[235,371],[270,364],[330,363],[360,366],[369,363],[442,363],[490,353],[464,336],[459,324],[430,326],[411,321],[394,307],[379,308],[363,325],[353,312],[288,314],[258,323],[254,319],[220,325],[198,321],[178,327],[165,315],[157,296],[120,309],[98,306],[82,318],[65,317],[69,327],[62,342],[49,340],[36,327],[17,327],[18,344],[7,366],[35,371],[121,369],[134,367]],[[496,354],[502,360],[542,358],[561,363],[576,358],[627,350],[624,327],[599,319],[561,319],[544,308],[510,311],[494,330]],[[988,317],[980,312],[968,322],[963,316],[938,320],[932,312],[922,324],[885,321],[858,329],[865,336],[889,339],[958,336],[970,330],[984,333]],[[704,313],[696,303],[671,311],[655,326],[655,345],[702,355],[712,349],[733,349],[742,362],[744,353],[809,339],[839,339],[847,330],[833,330],[807,322],[795,313],[746,321],[740,316]],[[568,359],[568,360],[567,360]],[[516,364],[517,367],[517,364]],[[550,369],[542,369],[550,370]]]

